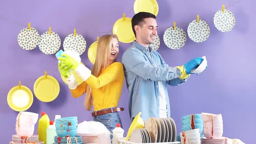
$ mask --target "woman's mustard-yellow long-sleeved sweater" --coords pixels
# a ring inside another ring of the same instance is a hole
[[[102,69],[98,77],[91,75],[89,79],[70,91],[74,98],[78,98],[86,92],[88,84],[92,87],[94,111],[117,107],[124,78],[123,65],[120,62],[114,62],[106,69]]]

